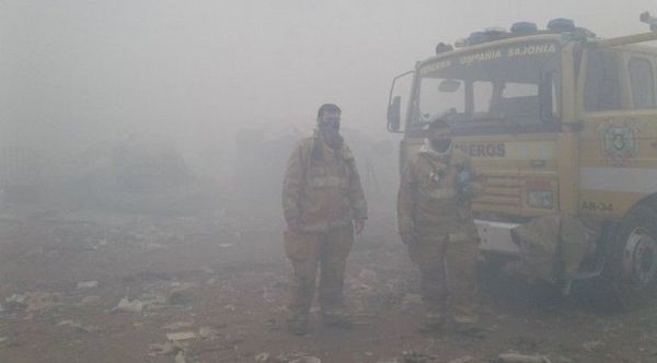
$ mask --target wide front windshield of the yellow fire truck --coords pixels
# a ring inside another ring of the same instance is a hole
[[[418,69],[407,130],[436,118],[454,130],[530,131],[558,116],[561,50],[555,42],[520,43],[426,62]]]

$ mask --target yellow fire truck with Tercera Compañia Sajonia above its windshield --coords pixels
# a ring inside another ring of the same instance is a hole
[[[611,277],[633,300],[657,285],[657,48],[639,45],[657,39],[657,19],[641,20],[649,32],[609,39],[566,19],[488,28],[393,80],[400,166],[441,118],[484,175],[472,208],[488,260],[518,256],[515,227],[568,216],[600,232],[574,280]]]

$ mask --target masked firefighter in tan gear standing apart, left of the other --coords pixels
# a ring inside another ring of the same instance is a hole
[[[343,281],[354,232],[360,234],[365,226],[367,202],[354,156],[339,134],[341,114],[334,104],[320,107],[314,134],[297,144],[285,174],[285,253],[292,265],[287,323],[293,335],[308,330],[318,267],[322,321],[351,327]]]

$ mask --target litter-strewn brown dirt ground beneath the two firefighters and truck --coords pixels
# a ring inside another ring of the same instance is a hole
[[[657,362],[657,308],[600,315],[518,282],[483,295],[485,337],[419,333],[418,277],[392,215],[349,257],[355,328],[315,317],[289,336],[280,215],[254,210],[3,210],[0,362]]]

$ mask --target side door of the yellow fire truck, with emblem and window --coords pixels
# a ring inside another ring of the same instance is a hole
[[[581,215],[620,220],[657,191],[654,56],[587,49],[580,74]]]

